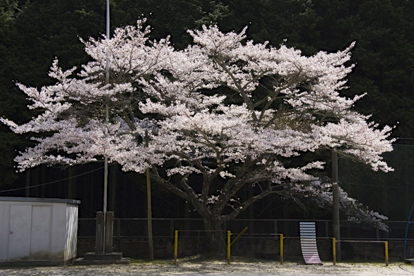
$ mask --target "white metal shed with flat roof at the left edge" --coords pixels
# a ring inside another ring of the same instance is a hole
[[[0,197],[0,265],[66,265],[77,257],[79,200]]]

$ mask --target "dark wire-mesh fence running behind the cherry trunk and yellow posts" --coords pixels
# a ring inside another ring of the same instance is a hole
[[[297,219],[235,219],[221,226],[223,230],[241,233],[248,230],[241,238],[269,239],[276,233],[285,237],[299,237],[299,221]],[[333,221],[309,220],[316,222],[317,237],[333,237]],[[95,237],[95,219],[78,220],[78,237]],[[373,239],[404,240],[406,221],[384,221],[388,232],[380,228],[374,221],[341,221],[341,239]],[[152,219],[152,235],[154,238],[172,238],[174,231],[179,230],[180,237],[205,237],[204,223],[201,219]],[[408,233],[408,239],[414,240],[414,229]],[[147,219],[114,219],[114,237],[146,238],[148,237]]]

